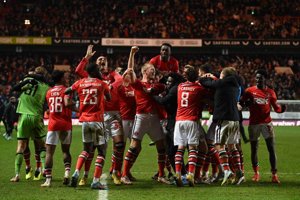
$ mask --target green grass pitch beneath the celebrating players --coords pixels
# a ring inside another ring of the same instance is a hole
[[[46,127],[47,128],[47,127]],[[206,127],[204,127],[206,129]],[[157,152],[155,147],[148,145],[150,139],[144,137],[142,151],[132,168],[133,176],[138,182],[133,182],[131,186],[114,186],[108,180],[108,199],[300,199],[300,172],[299,172],[299,147],[300,127],[275,126],[276,152],[278,159],[279,185],[271,183],[271,173],[267,147],[263,139],[260,140],[258,159],[260,181],[252,182],[253,171],[250,160],[250,144],[242,144],[244,153],[244,171],[247,182],[240,186],[228,185],[221,187],[221,183],[212,185],[196,185],[195,188],[188,186],[178,188],[176,186],[163,185],[151,180],[151,176],[158,171]],[[4,127],[1,127],[2,133]],[[247,130],[247,126],[245,126]],[[16,131],[13,132],[16,139]],[[88,186],[86,187],[66,187],[62,184],[64,165],[60,144],[54,154],[53,165],[53,187],[42,188],[40,185],[45,182],[41,176],[39,181],[25,180],[25,162],[22,163],[20,182],[12,183],[9,180],[14,175],[15,152],[17,150],[17,140],[6,141],[0,136],[1,142],[1,172],[0,190],[1,199],[97,199],[99,194],[96,190],[90,189],[92,182],[94,163],[89,174]],[[35,157],[33,142],[30,141],[31,164],[35,169]],[[127,151],[129,144],[127,144]],[[71,144],[72,166],[71,175],[75,170],[78,155],[83,150],[81,126],[73,126],[73,138]],[[111,164],[111,145],[108,147],[106,162],[103,172],[108,172]],[[185,153],[187,159],[187,152]],[[80,178],[83,174],[81,171]]]

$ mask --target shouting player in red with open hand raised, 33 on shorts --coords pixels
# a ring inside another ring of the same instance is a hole
[[[88,77],[87,71],[83,70],[84,65],[88,62],[96,51],[93,52],[93,45],[88,46],[88,51],[86,56],[82,59],[78,67],[76,68],[76,74],[81,78]],[[111,169],[110,175],[113,179],[113,182],[116,185],[120,185],[121,182],[118,177],[118,170],[120,168],[121,162],[124,156],[124,131],[122,126],[122,118],[120,113],[119,106],[119,96],[118,96],[118,88],[123,84],[122,76],[118,72],[109,71],[107,59],[103,56],[98,57],[96,64],[101,67],[103,81],[108,84],[110,89],[112,100],[110,102],[105,102],[104,105],[104,121],[106,126],[106,132],[109,137],[113,138],[113,155],[112,162],[113,167]],[[88,158],[88,166],[84,168],[83,178],[80,181],[79,185],[85,185],[87,182],[89,167],[91,166],[91,162],[93,160],[95,147],[92,150],[90,157]]]

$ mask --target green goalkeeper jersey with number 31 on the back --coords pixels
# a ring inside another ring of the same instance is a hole
[[[37,85],[27,84],[22,87],[17,113],[43,118],[43,105],[49,86],[42,81],[35,80],[38,82]]]

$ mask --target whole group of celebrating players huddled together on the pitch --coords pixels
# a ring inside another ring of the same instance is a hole
[[[195,183],[210,184],[218,181],[222,181],[221,185],[226,185],[232,179],[232,184],[239,185],[246,180],[238,110],[242,106],[249,106],[248,130],[254,170],[252,180],[259,180],[257,150],[262,133],[270,153],[272,182],[280,183],[277,178],[270,106],[282,113],[285,105],[277,105],[274,91],[264,85],[267,79],[265,70],[256,71],[256,86],[246,91],[241,87],[237,71],[233,67],[224,68],[221,74],[217,74],[212,72],[208,64],[201,65],[199,72],[193,66],[186,65],[181,76],[178,74],[178,61],[170,56],[172,46],[165,43],[161,46],[161,55],[151,59],[150,63],[143,64],[143,79],[140,80],[133,71],[134,55],[138,52],[138,47],[131,49],[128,68],[117,68],[115,71],[108,70],[107,59],[103,56],[84,70],[88,59],[96,53],[92,48],[93,45],[88,46],[86,56],[75,71],[82,79],[69,88],[65,72],[55,70],[51,74],[55,86],[49,89],[45,80],[47,71],[43,67],[37,67],[35,73],[26,75],[14,86],[14,90],[20,91],[21,96],[17,108],[20,118],[15,176],[11,179],[12,182],[19,182],[23,159],[26,163],[26,179],[32,176],[28,149],[31,137],[40,154],[36,153],[36,157],[40,156],[40,161],[34,180],[39,180],[41,174],[46,177],[42,187],[52,187],[53,154],[60,140],[65,164],[63,184],[76,187],[83,166],[84,173],[79,185],[87,184],[97,148],[91,188],[108,189],[99,182],[99,178],[105,162],[108,139],[111,137],[113,155],[110,179],[116,185],[130,185],[137,181],[130,171],[142,149],[143,136],[148,134],[158,152],[158,173],[152,177],[158,182],[194,187]],[[72,93],[75,91],[80,99],[79,108],[72,103]],[[42,115],[44,100],[50,110],[47,134]],[[212,115],[207,132],[201,126],[205,104]],[[72,176],[69,152],[72,138],[71,110],[79,112],[83,131],[83,151]],[[124,158],[127,138],[130,147]],[[186,149],[188,163],[185,166],[183,156]],[[212,175],[208,177],[210,164]],[[168,170],[168,177],[165,168]]]

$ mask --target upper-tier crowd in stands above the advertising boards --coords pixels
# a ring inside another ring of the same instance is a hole
[[[0,4],[0,36],[300,38],[297,0],[30,2]]]

